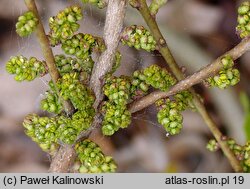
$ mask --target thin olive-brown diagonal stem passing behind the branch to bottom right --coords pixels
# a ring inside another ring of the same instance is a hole
[[[145,0],[133,0],[133,2],[134,1],[137,1],[136,8],[140,11],[152,35],[154,36],[154,39],[156,40],[157,45],[158,45],[159,52],[162,54],[163,58],[165,59],[166,63],[170,67],[175,77],[179,81],[183,80],[184,75],[180,67],[176,63],[170,49],[168,48],[166,40],[164,39],[162,33],[160,32],[159,27],[155,21],[155,18],[153,18],[152,15],[150,14],[150,10],[147,6],[146,1]],[[226,142],[222,140],[223,138],[222,133],[218,130],[215,122],[212,120],[212,118],[206,111],[204,104],[200,101],[198,95],[195,93],[195,91],[192,88],[190,88],[189,91],[193,95],[193,104],[195,105],[196,109],[198,110],[202,118],[204,119],[205,123],[207,124],[208,128],[214,135],[215,139],[220,144],[222,151],[224,152],[225,156],[228,158],[233,169],[235,170],[235,172],[242,172],[242,167],[240,166],[240,162],[234,156],[233,152],[230,150]]]

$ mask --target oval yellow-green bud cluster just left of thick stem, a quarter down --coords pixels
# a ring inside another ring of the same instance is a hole
[[[88,59],[93,48],[96,48],[96,39],[90,34],[76,34],[62,42],[62,49],[66,54],[74,55],[80,59]]]

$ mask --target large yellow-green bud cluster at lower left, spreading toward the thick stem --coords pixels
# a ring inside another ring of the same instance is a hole
[[[80,111],[72,118],[63,115],[55,117],[39,117],[36,114],[28,115],[23,125],[26,134],[37,142],[39,146],[49,153],[61,142],[73,144],[80,132],[87,130],[93,121],[94,111]]]

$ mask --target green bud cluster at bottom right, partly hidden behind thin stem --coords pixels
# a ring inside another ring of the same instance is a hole
[[[244,146],[241,146],[235,142],[234,139],[225,138],[227,145],[233,151],[235,157],[240,161],[244,172],[250,172],[250,142],[248,141]],[[215,152],[220,148],[215,139],[209,140],[207,143],[207,149],[211,152]]]

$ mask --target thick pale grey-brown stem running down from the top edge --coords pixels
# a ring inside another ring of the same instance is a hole
[[[102,79],[112,69],[113,60],[119,44],[120,33],[125,17],[126,0],[109,0],[106,21],[104,26],[104,42],[106,50],[101,54],[98,62],[94,65],[90,79],[90,87],[95,93],[96,102],[94,107],[100,104],[102,94]]]

